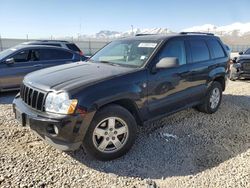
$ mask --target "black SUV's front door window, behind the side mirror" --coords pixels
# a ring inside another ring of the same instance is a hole
[[[164,57],[176,57],[180,65],[186,64],[184,41],[169,41],[160,52],[159,60]]]

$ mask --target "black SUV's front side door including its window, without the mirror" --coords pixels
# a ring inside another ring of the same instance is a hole
[[[181,39],[168,41],[162,47],[155,62],[159,62],[164,57],[176,57],[179,66],[158,69],[155,73],[149,73],[148,110],[151,118],[170,113],[188,104],[186,98],[188,69],[185,41]]]

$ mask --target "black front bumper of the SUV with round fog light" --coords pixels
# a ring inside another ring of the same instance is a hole
[[[48,114],[31,109],[19,96],[13,101],[13,110],[22,126],[29,126],[40,138],[63,151],[76,150],[80,147],[94,116],[94,113]]]

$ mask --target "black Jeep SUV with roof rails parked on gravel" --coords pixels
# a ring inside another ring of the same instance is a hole
[[[27,75],[16,119],[61,150],[83,144],[100,160],[125,154],[137,126],[179,110],[214,113],[229,56],[211,34],[145,35],[113,41],[86,63]]]

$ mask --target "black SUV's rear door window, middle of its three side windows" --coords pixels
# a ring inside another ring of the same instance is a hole
[[[208,47],[203,40],[191,40],[190,50],[193,58],[193,62],[209,60]]]

